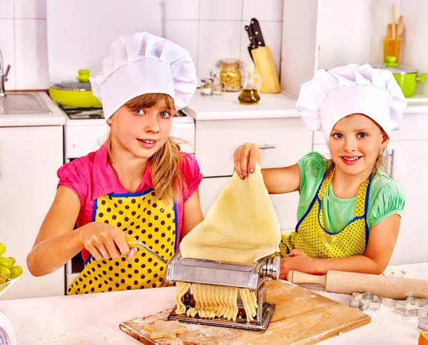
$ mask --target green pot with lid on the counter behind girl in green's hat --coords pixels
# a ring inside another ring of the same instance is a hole
[[[417,81],[423,83],[424,79],[428,76],[427,73],[418,76],[417,69],[397,64],[395,62],[395,56],[387,56],[387,62],[373,67],[391,71],[394,79],[397,81],[397,84],[402,89],[404,97],[406,98],[414,95],[414,89],[416,89]]]

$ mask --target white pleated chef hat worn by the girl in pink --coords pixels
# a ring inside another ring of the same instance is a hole
[[[188,51],[148,32],[113,41],[103,60],[103,71],[90,81],[93,94],[103,104],[106,120],[142,94],[168,94],[174,99],[175,109],[183,109],[198,86]]]

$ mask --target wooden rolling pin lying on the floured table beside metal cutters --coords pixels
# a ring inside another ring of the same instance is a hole
[[[314,276],[290,271],[287,274],[287,281],[294,284],[321,284],[325,286],[326,291],[342,294],[370,291],[374,295],[388,299],[407,299],[407,296],[414,296],[418,299],[428,298],[428,281],[396,276],[342,271],[327,271],[324,276]]]

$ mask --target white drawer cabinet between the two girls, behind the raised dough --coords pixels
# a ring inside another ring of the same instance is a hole
[[[195,156],[204,178],[200,203],[204,216],[233,173],[233,152],[240,144],[253,142],[263,152],[262,168],[289,166],[312,147],[312,134],[300,118],[235,119],[196,121]],[[280,227],[293,229],[299,195],[271,195]]]

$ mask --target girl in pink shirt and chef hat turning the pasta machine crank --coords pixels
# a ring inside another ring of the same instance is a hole
[[[173,114],[195,91],[195,67],[180,46],[138,33],[113,42],[91,84],[110,135],[101,149],[58,170],[29,270],[49,274],[81,251],[85,267],[68,294],[165,286],[165,265],[130,249],[126,236],[168,260],[203,220],[198,163],[169,136]]]

